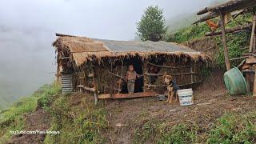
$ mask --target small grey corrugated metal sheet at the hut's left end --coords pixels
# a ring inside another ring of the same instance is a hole
[[[72,74],[62,74],[62,94],[70,94],[72,91]]]

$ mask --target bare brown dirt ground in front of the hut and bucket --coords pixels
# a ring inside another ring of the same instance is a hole
[[[197,90],[194,105],[166,104],[156,98],[122,99],[106,102],[110,143],[132,143],[134,130],[148,119],[165,121],[170,126],[180,122],[200,123],[207,130],[210,124],[226,113],[245,113],[254,110],[255,98],[230,97],[222,82],[222,73],[216,72]]]

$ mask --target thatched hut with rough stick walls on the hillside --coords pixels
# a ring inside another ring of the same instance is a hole
[[[96,99],[163,94],[166,90],[161,78],[163,74],[173,75],[178,86],[192,86],[201,82],[201,66],[210,60],[206,54],[172,42],[57,36],[53,46],[58,52],[62,93],[90,91]],[[135,94],[126,94],[124,79],[127,66],[131,64],[143,77],[135,81]]]

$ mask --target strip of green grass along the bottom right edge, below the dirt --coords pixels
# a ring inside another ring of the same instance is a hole
[[[256,111],[247,114],[225,114],[213,126],[149,119],[134,131],[134,143],[255,143]]]

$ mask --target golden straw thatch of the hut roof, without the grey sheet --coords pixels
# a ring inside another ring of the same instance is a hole
[[[210,57],[200,52],[181,52],[181,51],[109,51],[106,46],[102,45],[102,42],[94,41],[90,38],[75,37],[72,38],[72,42],[69,38],[59,37],[53,43],[56,47],[59,57],[69,57],[71,62],[74,62],[77,67],[82,66],[86,62],[98,62],[106,58],[111,59],[124,59],[139,57],[142,61],[153,57],[166,57],[166,58],[182,58],[182,60],[191,60],[194,62],[210,61]],[[75,42],[75,43],[74,43]],[[63,55],[66,54],[66,55]]]

